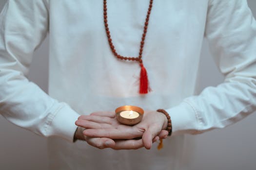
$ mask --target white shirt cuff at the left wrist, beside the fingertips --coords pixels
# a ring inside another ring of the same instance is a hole
[[[57,104],[58,108],[53,115],[52,121],[46,128],[47,136],[58,136],[69,142],[73,142],[77,129],[75,121],[80,116],[68,104]]]

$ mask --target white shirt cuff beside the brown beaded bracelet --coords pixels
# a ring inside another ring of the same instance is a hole
[[[172,120],[172,136],[199,133],[199,116],[189,102],[183,101],[175,107],[166,109],[166,111]]]

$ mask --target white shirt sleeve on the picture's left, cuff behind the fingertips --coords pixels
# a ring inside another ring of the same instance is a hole
[[[26,75],[33,52],[48,33],[46,0],[8,0],[0,13],[0,114],[40,136],[73,141],[79,117]]]

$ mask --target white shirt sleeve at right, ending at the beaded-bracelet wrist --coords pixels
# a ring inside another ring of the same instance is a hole
[[[210,0],[205,37],[225,80],[167,109],[173,135],[223,128],[256,110],[256,21],[247,1]]]

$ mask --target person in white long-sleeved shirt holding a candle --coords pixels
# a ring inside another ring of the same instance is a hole
[[[138,56],[148,5],[149,0],[107,0],[118,54]],[[100,0],[8,0],[0,14],[0,113],[48,137],[50,169],[185,170],[184,134],[223,128],[255,110],[256,22],[245,0],[154,1],[143,67],[115,57],[104,12]],[[49,94],[26,78],[47,34]],[[203,37],[225,81],[195,95]],[[141,95],[143,68],[152,91]],[[126,104],[146,110],[141,123],[118,124],[113,110]],[[158,151],[151,142],[167,135],[160,108],[171,117],[172,135]],[[74,135],[114,150],[73,142]]]

